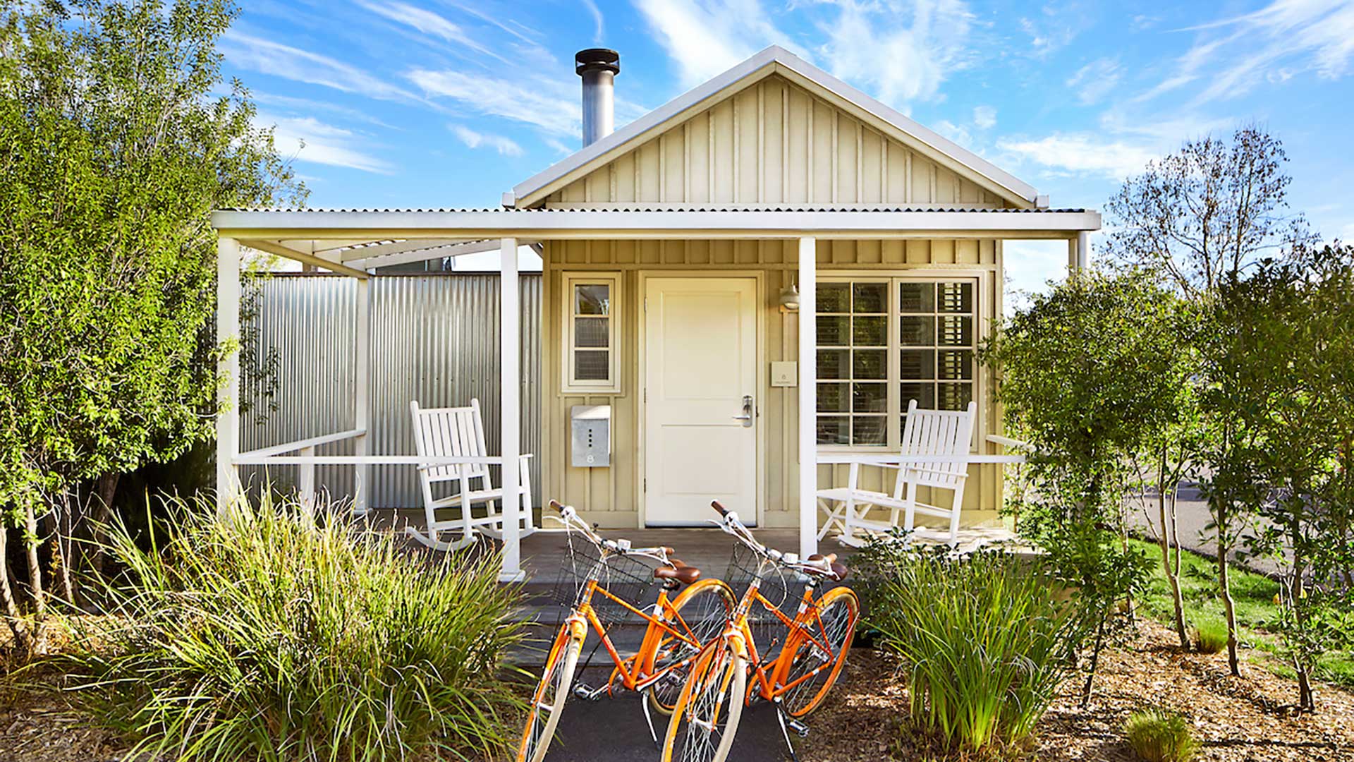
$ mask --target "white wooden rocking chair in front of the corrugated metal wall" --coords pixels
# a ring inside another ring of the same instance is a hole
[[[479,400],[470,400],[463,408],[420,408],[417,401],[409,403],[414,419],[414,446],[420,456],[436,458],[483,458],[489,457],[485,447],[485,423],[479,415]],[[524,454],[519,461],[521,479],[520,532],[521,537],[533,533],[531,521],[531,472]],[[504,468],[509,468],[504,464]],[[460,491],[447,498],[433,498],[432,485],[441,481],[460,483]],[[504,514],[496,510],[502,502],[502,485],[494,487],[489,477],[489,465],[482,462],[436,464],[418,466],[418,483],[422,488],[427,532],[406,526],[405,532],[435,550],[455,550],[475,541],[475,533],[502,538]],[[485,515],[474,517],[471,507],[485,504]],[[459,507],[460,515],[452,519],[437,519],[439,508]],[[444,542],[443,532],[460,530],[460,540]]]

